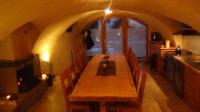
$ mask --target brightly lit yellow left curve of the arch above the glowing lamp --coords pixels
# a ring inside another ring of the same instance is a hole
[[[41,33],[41,35],[38,37],[34,47],[33,47],[33,53],[37,54],[43,54],[43,53],[49,53],[53,52],[52,48],[54,44],[56,43],[56,40],[61,37],[61,35],[65,32],[65,30],[72,24],[78,21],[79,19],[82,19],[84,17],[87,17],[91,14],[98,13],[99,11],[91,11],[84,14],[76,14],[73,16],[65,17],[61,20],[56,21],[53,24],[48,25],[45,30]]]

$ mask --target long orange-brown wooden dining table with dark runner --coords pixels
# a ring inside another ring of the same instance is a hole
[[[116,63],[116,75],[96,75],[103,55],[95,56],[86,66],[80,80],[70,95],[70,101],[98,101],[105,112],[108,101],[135,101],[137,92],[124,55],[111,55]]]

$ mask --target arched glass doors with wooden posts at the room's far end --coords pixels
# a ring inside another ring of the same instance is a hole
[[[123,47],[131,47],[140,57],[147,56],[147,27],[131,18],[113,17],[106,22],[99,19],[89,25],[94,46],[87,51],[88,56],[102,54],[122,54]],[[103,28],[103,30],[102,30]]]

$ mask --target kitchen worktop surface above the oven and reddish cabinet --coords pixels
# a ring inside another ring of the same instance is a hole
[[[180,56],[174,56],[174,58],[200,74],[200,61],[195,61],[191,55],[182,54]]]

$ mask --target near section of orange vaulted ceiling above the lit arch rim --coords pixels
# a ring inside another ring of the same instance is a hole
[[[27,22],[32,21],[43,30],[48,24],[61,18],[105,9],[109,2],[110,0],[1,0],[0,40]],[[199,6],[199,0],[112,0],[111,8],[172,18],[200,31]]]

